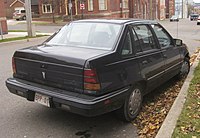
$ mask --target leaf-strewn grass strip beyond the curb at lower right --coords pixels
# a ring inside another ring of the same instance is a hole
[[[187,99],[172,138],[200,137],[200,63],[195,69]]]

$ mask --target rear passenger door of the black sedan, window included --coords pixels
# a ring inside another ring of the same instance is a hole
[[[149,25],[133,25],[134,49],[141,75],[147,81],[148,90],[160,84],[164,73],[164,59]]]

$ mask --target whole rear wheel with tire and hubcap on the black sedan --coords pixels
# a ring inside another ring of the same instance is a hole
[[[131,122],[139,113],[142,106],[142,89],[135,86],[126,97],[124,105],[116,111],[117,116],[126,122]]]

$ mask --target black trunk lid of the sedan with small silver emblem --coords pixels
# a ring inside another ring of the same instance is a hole
[[[72,92],[83,92],[85,62],[108,51],[65,46],[35,46],[14,54],[15,77]]]

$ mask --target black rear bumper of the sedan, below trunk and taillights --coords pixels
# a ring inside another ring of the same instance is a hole
[[[11,93],[24,97],[29,101],[34,101],[35,93],[49,96],[51,98],[51,107],[65,108],[69,112],[84,116],[97,116],[120,108],[129,89],[128,87],[103,96],[94,97],[16,78],[7,79],[6,86]]]

